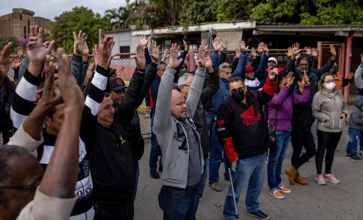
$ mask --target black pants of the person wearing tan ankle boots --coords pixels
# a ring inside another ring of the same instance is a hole
[[[315,155],[315,143],[313,135],[310,130],[308,132],[292,129],[291,131],[291,144],[293,148],[291,156],[291,165],[295,167],[296,170],[302,166],[306,161]],[[302,146],[305,147],[306,153],[300,157]]]

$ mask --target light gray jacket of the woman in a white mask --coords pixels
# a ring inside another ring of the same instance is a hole
[[[342,132],[345,121],[340,118],[343,113],[348,115],[347,103],[339,98],[338,93],[323,91],[324,102],[318,103],[317,92],[313,99],[313,117],[318,119],[317,129],[323,132]],[[332,120],[327,121],[327,117]]]

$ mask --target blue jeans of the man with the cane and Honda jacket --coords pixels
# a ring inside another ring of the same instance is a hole
[[[236,163],[236,171],[233,175],[236,204],[238,205],[240,195],[248,183],[245,203],[249,213],[259,210],[258,196],[261,193],[265,179],[265,163],[266,153],[241,159]],[[223,215],[226,220],[234,220],[236,216],[231,187],[227,192]]]

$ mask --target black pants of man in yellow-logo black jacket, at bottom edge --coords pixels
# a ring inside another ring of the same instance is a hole
[[[93,220],[133,220],[134,202],[129,201],[122,204],[94,203],[96,213]]]

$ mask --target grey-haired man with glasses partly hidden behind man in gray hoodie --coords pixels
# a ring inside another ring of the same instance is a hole
[[[210,59],[206,57],[205,59]],[[208,156],[209,156],[209,129],[207,126],[207,117],[204,112],[204,104],[207,103],[212,96],[218,91],[219,89],[219,78],[218,73],[215,67],[211,67],[206,70],[208,74],[207,75],[207,81],[208,86],[202,90],[202,93],[200,95],[200,100],[197,105],[196,113],[193,116],[193,121],[197,127],[197,131],[200,135],[200,142],[202,144],[202,150],[203,150],[203,158],[204,158],[204,167],[203,167],[203,174],[202,178],[200,179],[198,185],[197,185],[197,198],[196,198],[196,208],[195,208],[195,214],[197,213],[198,205],[199,205],[199,199],[203,195],[205,183],[207,181],[208,177]],[[194,74],[190,72],[184,72],[182,75],[179,76],[178,85],[180,88],[181,94],[183,94],[184,98],[186,99],[188,97],[189,88],[192,84],[194,79]],[[195,215],[194,214],[194,215]]]

